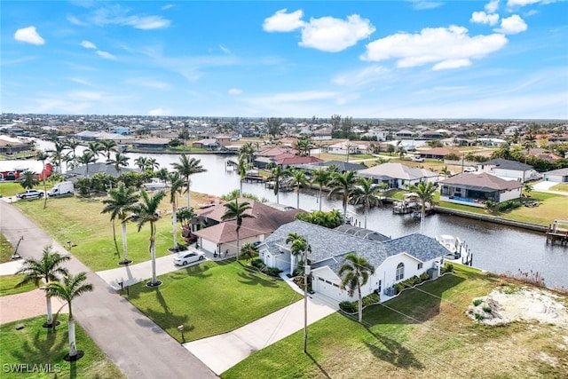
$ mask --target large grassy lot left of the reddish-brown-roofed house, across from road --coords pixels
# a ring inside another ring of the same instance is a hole
[[[43,209],[43,201],[18,201],[14,205],[61,245],[67,246],[67,241],[75,244],[70,252],[92,271],[101,271],[117,267],[122,259],[121,225],[116,222],[117,254],[109,214],[101,213],[104,208],[102,199],[55,198],[47,202],[46,209]],[[169,199],[170,196],[166,196],[160,205],[162,218],[156,223],[156,257],[170,254],[168,249],[173,245]],[[192,203],[201,199],[202,196],[196,193],[192,195]],[[128,257],[134,264],[149,260],[149,226],[143,226],[138,233],[137,224],[129,222],[127,231]],[[179,235],[177,241],[182,241]]]

